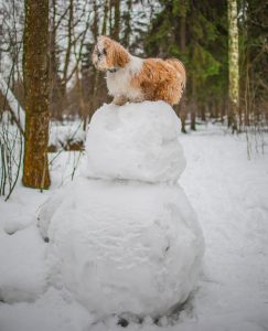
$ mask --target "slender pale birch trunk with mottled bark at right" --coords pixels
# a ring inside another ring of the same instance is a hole
[[[239,50],[237,0],[228,0],[229,113],[228,125],[237,131],[239,109]]]

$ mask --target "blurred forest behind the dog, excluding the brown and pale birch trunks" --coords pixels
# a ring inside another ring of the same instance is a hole
[[[268,6],[242,0],[239,32],[239,128],[268,121]],[[0,72],[24,107],[22,1],[0,4]],[[104,75],[90,55],[99,34],[110,35],[141,57],[178,57],[187,72],[182,121],[227,124],[228,20],[223,0],[51,0],[49,26],[52,120],[84,119],[109,102]],[[1,97],[3,109],[3,96]],[[264,128],[265,129],[265,128]],[[183,130],[185,127],[183,126]]]

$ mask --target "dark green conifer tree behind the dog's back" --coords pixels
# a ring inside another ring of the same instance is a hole
[[[212,77],[219,77],[221,56],[215,50],[221,47],[218,26],[212,19],[213,10],[210,0],[202,2],[193,0],[160,1],[162,10],[156,15],[146,39],[146,50],[151,56],[178,57],[187,74],[185,108],[191,113],[191,128],[195,129],[195,114],[208,99],[207,83]],[[225,9],[225,8],[224,8]],[[216,19],[223,12],[216,12]],[[222,50],[221,50],[222,51]],[[227,52],[227,49],[225,50]],[[215,83],[215,82],[214,82]],[[184,100],[181,108],[184,108]],[[182,120],[184,111],[181,111]],[[182,127],[185,130],[184,126]]]

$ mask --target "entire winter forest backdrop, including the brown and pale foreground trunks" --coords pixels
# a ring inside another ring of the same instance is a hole
[[[174,107],[183,132],[210,121],[267,131],[267,1],[0,0],[0,195],[10,196],[21,169],[25,186],[50,186],[56,126],[79,122],[60,152],[83,150],[93,114],[111,100],[92,63],[100,34],[132,55],[184,63],[186,90]]]

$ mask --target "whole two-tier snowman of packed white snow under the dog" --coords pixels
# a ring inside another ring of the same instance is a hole
[[[82,174],[41,210],[51,284],[98,319],[167,316],[195,287],[204,242],[179,184],[180,130],[164,102],[104,105]]]

